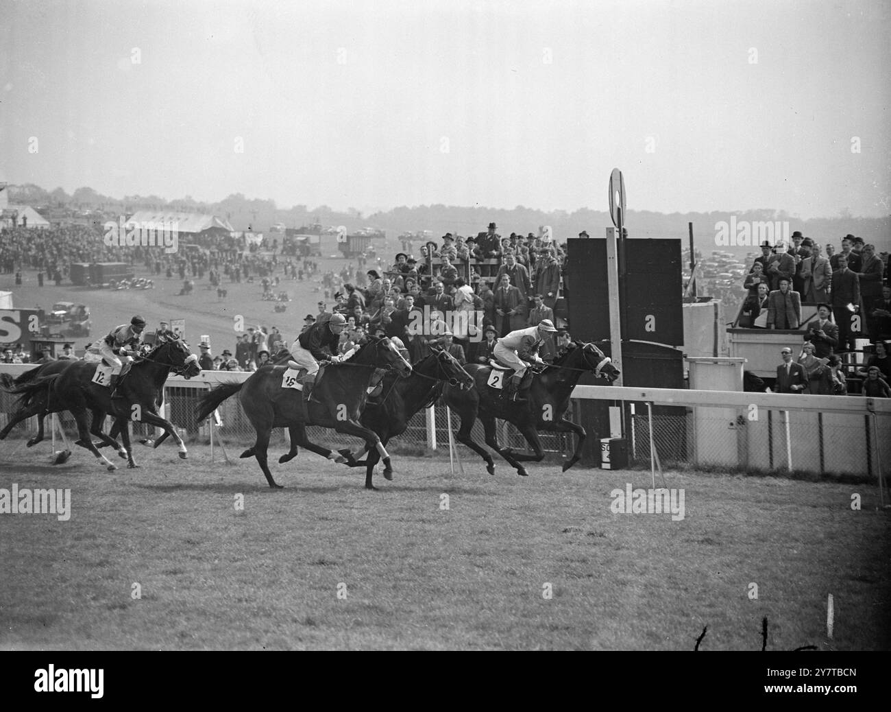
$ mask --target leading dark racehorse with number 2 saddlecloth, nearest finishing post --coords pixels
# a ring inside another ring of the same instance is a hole
[[[530,367],[536,368],[536,367]],[[536,372],[532,384],[526,392],[526,402],[515,402],[503,399],[501,391],[487,385],[492,367],[471,364],[467,367],[477,387],[470,393],[461,393],[447,385],[443,393],[446,404],[461,418],[461,428],[455,435],[459,443],[464,443],[470,450],[486,460],[486,469],[495,475],[495,462],[481,445],[474,442],[470,435],[476,419],[483,423],[486,432],[486,444],[506,459],[517,470],[520,476],[527,476],[526,468],[520,464],[525,461],[541,462],[544,459],[542,443],[538,438],[539,430],[549,433],[575,433],[578,437],[576,451],[563,463],[563,472],[576,464],[582,456],[582,443],[586,433],[584,427],[578,426],[566,418],[569,407],[569,396],[583,373],[592,372],[595,376],[605,378],[612,383],[619,376],[618,368],[613,366],[607,356],[594,344],[578,343],[559,360],[547,364],[540,372]],[[503,374],[502,383],[510,375]],[[517,426],[519,432],[532,446],[535,455],[514,452],[509,447],[500,447],[495,436],[495,418],[502,418]]]

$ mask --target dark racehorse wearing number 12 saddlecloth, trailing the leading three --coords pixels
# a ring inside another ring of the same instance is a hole
[[[90,434],[98,435],[102,443],[123,451],[121,457],[127,458],[127,467],[135,468],[137,465],[130,447],[127,420],[163,428],[165,433],[173,436],[179,446],[180,458],[185,459],[185,443],[177,435],[173,424],[159,416],[158,403],[170,371],[186,378],[200,374],[198,357],[189,351],[189,347],[180,339],[168,339],[150,352],[137,356],[127,377],[118,386],[121,397],[114,399],[111,398],[109,386],[93,382],[98,366],[94,361],[71,361],[69,366],[61,368],[58,373],[38,376],[30,383],[13,386],[8,391],[24,393],[26,400],[30,400],[29,406],[22,412],[38,406],[44,413],[69,410],[78,422],[80,439],[75,444],[93,452],[96,459],[101,460],[109,471],[117,468],[96,449]],[[91,427],[87,427],[87,410],[93,413]],[[34,414],[36,413],[31,413]],[[122,448],[113,438],[102,433],[102,420],[106,414],[115,419],[115,428],[124,441]],[[20,418],[20,415],[21,413],[17,414],[16,418]]]

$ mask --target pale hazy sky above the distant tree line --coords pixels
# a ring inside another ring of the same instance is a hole
[[[891,3],[0,0],[0,181],[891,213]]]

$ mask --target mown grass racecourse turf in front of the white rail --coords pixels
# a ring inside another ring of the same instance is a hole
[[[693,650],[706,625],[700,650],[761,650],[764,617],[767,650],[889,647],[871,485],[669,472],[673,521],[610,510],[649,472],[493,477],[468,451],[464,476],[396,456],[379,492],[301,452],[274,492],[205,446],[137,445],[143,467],[114,473],[0,448],[0,487],[71,491],[68,521],[0,515],[3,650]]]

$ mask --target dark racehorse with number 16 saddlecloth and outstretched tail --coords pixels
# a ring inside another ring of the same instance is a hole
[[[385,472],[393,471],[389,455],[380,443],[380,437],[359,423],[368,398],[367,389],[376,368],[394,368],[400,376],[412,373],[412,366],[401,353],[396,351],[392,341],[388,338],[369,337],[369,341],[348,360],[326,366],[323,374],[316,375],[312,393],[314,400],[309,402],[304,400],[303,393],[293,388],[282,387],[282,377],[286,368],[264,366],[258,368],[242,383],[217,385],[201,396],[197,421],[200,423],[216,410],[220,403],[238,393],[241,407],[257,431],[257,442],[242,452],[241,457],[256,457],[260,469],[266,476],[266,482],[275,489],[281,489],[282,486],[275,484],[267,464],[269,435],[272,434],[274,427],[293,427],[290,433],[296,433],[298,444],[319,454],[323,454],[324,450],[308,443],[306,426],[330,427],[338,433],[354,435],[362,438],[368,444],[369,450],[375,448],[380,452]],[[330,459],[344,460],[344,456],[335,457],[331,451],[328,452]]]

